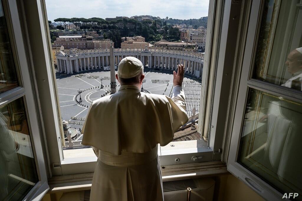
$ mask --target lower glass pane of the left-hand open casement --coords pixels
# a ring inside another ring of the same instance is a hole
[[[21,200],[38,176],[23,99],[0,107],[0,200]]]

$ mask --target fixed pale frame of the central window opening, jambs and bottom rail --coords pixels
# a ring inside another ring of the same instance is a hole
[[[47,141],[47,144],[44,143],[44,147],[48,147],[48,154],[49,154],[49,166],[50,166],[50,173],[52,175],[65,175],[65,174],[79,174],[79,173],[89,173],[93,172],[95,168],[95,161],[96,157],[94,158],[86,158],[83,160],[79,160],[76,158],[73,159],[64,159],[63,158],[63,149],[61,146],[61,136],[63,133],[63,128],[62,128],[62,123],[60,123],[59,116],[60,116],[60,110],[59,110],[59,100],[58,100],[58,92],[56,91],[56,78],[55,78],[55,73],[53,71],[53,66],[51,64],[51,59],[52,59],[52,53],[51,53],[51,44],[50,44],[50,37],[48,36],[49,28],[48,24],[46,24],[47,21],[47,14],[46,14],[46,8],[45,8],[45,1],[41,1],[41,4],[39,3],[40,1],[37,0],[37,7],[38,7],[38,14],[39,14],[39,22],[38,23],[31,23],[28,24],[28,31],[29,31],[29,36],[31,36],[33,33],[31,27],[32,24],[40,24],[40,29],[39,32],[41,32],[41,36],[39,36],[40,42],[36,42],[34,40],[31,40],[31,37],[29,37],[29,41],[31,42],[31,45],[35,47],[35,49],[43,49],[44,52],[44,58],[43,61],[34,61],[35,65],[35,71],[39,75],[44,75],[45,81],[42,82],[41,80],[37,79],[37,85],[38,85],[38,93],[40,97],[40,103],[41,103],[41,112],[42,116],[43,114],[48,114],[48,119],[50,121],[44,121],[45,125],[45,138]],[[27,2],[24,2],[23,4],[28,4]],[[219,9],[217,9],[217,4],[219,4]],[[204,72],[203,73],[203,80],[202,81],[202,88],[204,91],[201,93],[201,100],[203,100],[204,97],[207,97],[207,91],[214,91],[214,90],[221,90],[222,83],[215,82],[213,80],[212,83],[212,89],[208,90],[206,86],[208,86],[208,81],[209,81],[209,76],[210,76],[210,68],[214,69],[212,73],[213,76],[216,74],[216,66],[221,65],[222,69],[225,68],[224,65],[224,60],[217,60],[217,57],[223,56],[222,54],[217,54],[218,49],[221,48],[221,46],[226,46],[226,38],[223,40],[220,39],[222,33],[222,18],[224,19],[229,19],[230,18],[230,11],[224,12],[223,13],[223,4],[231,4],[230,2],[223,3],[221,1],[217,0],[210,0],[210,5],[209,5],[209,17],[208,17],[208,27],[207,27],[207,38],[209,40],[206,41],[205,44],[205,49],[209,51],[209,54],[206,54],[205,59],[204,59]],[[28,6],[26,6],[28,8]],[[29,11],[24,11],[27,13],[27,15],[31,16],[31,13]],[[33,12],[32,12],[33,13]],[[34,15],[34,14],[33,14]],[[214,20],[214,18],[216,20]],[[33,18],[31,18],[33,20]],[[215,25],[213,24],[215,22]],[[35,28],[37,29],[37,27]],[[215,49],[216,49],[216,54],[212,54],[213,51],[213,46],[215,44]],[[106,44],[107,45],[107,44]],[[220,52],[221,53],[221,52]],[[37,53],[33,51],[33,58],[36,58]],[[208,62],[205,62],[208,61]],[[38,63],[41,62],[40,65]],[[43,65],[42,65],[43,64]],[[39,68],[38,68],[39,66]],[[226,66],[226,69],[230,69],[230,66]],[[47,90],[43,88],[43,90],[40,88],[39,85],[44,85],[45,83],[49,85],[47,87]],[[214,89],[215,85],[215,89]],[[42,92],[43,91],[43,92]],[[220,100],[223,98],[223,94],[216,94],[214,99],[213,99],[213,93],[212,96],[204,101],[201,102],[200,107],[200,113],[199,113],[199,125],[200,127],[204,127],[206,125],[204,123],[204,120],[207,118],[210,118],[212,121],[214,120],[210,115],[205,115],[206,110],[212,111],[212,101],[215,100]],[[214,101],[214,102],[215,102]],[[204,106],[207,106],[204,107]],[[209,107],[210,105],[210,107]],[[227,103],[224,103],[226,106]],[[213,110],[214,111],[214,110]],[[215,110],[213,113],[218,115],[218,110]],[[213,113],[209,113],[213,115]],[[52,116],[50,118],[49,116]],[[215,116],[215,115],[214,115]],[[209,119],[209,120],[210,120]],[[215,120],[214,120],[215,121]],[[222,120],[216,119],[215,124],[219,124],[223,122]],[[210,125],[210,121],[209,124]],[[202,133],[204,129],[198,128],[198,132]],[[173,165],[173,164],[183,164],[183,163],[196,163],[196,162],[207,162],[207,161],[220,161],[222,158],[222,146],[223,146],[223,135],[224,132],[221,132],[217,130],[215,127],[214,129],[210,130],[212,140],[208,143],[209,148],[207,149],[202,149],[202,148],[194,148],[194,149],[188,149],[188,150],[182,150],[183,153],[180,154],[179,152],[171,151],[171,152],[165,152],[165,155],[162,155],[161,157],[161,165]],[[213,152],[214,150],[214,152]],[[175,154],[176,153],[176,154]],[[192,161],[192,156],[197,156],[197,157],[203,157],[202,159],[199,159],[198,161]],[[175,162],[175,158],[180,158],[181,162]],[[85,165],[83,165],[85,163]]]

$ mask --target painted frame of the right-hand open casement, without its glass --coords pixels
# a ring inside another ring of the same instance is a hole
[[[227,158],[227,170],[243,181],[252,190],[258,193],[266,200],[279,200],[283,194],[265,182],[261,177],[254,174],[248,168],[237,162],[239,146],[243,129],[246,101],[249,88],[254,88],[278,96],[288,98],[293,101],[301,102],[302,92],[274,85],[265,81],[252,78],[254,70],[255,55],[258,46],[259,31],[262,21],[262,12],[264,9],[264,0],[249,1],[249,13],[243,21],[246,24],[246,34],[242,37],[244,51],[241,52],[242,63],[240,63],[241,75],[236,96],[236,108],[233,120],[233,130],[231,131],[230,152]]]

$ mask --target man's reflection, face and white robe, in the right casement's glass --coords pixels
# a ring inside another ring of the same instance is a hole
[[[292,50],[285,64],[292,77],[282,86],[301,91],[302,48]],[[302,186],[302,174],[298,174],[302,161],[302,105],[284,97],[263,93],[260,107],[262,110],[267,109],[267,114],[259,119],[262,123],[267,121],[264,149],[266,168],[275,173],[273,175],[276,175],[276,179],[297,190],[297,187],[299,189]]]

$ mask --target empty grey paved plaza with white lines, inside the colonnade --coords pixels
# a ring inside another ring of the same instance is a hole
[[[116,71],[117,73],[117,71]],[[155,69],[145,69],[146,82],[143,83],[143,88],[152,94],[165,94],[169,96],[173,86],[173,72],[172,71],[156,71]],[[81,76],[82,75],[82,76]],[[85,76],[84,76],[85,75]],[[79,77],[76,77],[79,76]],[[81,76],[81,77],[80,77]],[[99,76],[97,79],[88,78],[89,76]],[[71,120],[71,117],[85,118],[92,101],[101,98],[102,95],[109,95],[110,80],[100,80],[100,78],[110,77],[110,71],[94,71],[85,72],[83,74],[76,73],[73,75],[56,74],[56,81],[59,94],[59,104],[63,120],[69,120],[69,124],[73,128],[82,128],[81,120]],[[153,79],[157,80],[169,80],[169,85],[166,83],[152,83]],[[192,81],[188,75],[185,75],[184,81]],[[200,82],[200,81],[199,81]],[[101,89],[101,83],[104,88]],[[120,88],[117,82],[117,91]],[[79,101],[78,91],[84,90],[81,93],[82,105],[76,103],[76,99]],[[107,92],[107,94],[106,94]],[[74,122],[72,124],[70,122]],[[101,120],[100,120],[101,121]],[[78,124],[78,125],[76,125]],[[80,140],[80,139],[77,139]]]

